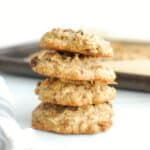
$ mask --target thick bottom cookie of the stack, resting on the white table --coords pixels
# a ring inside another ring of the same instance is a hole
[[[112,125],[110,104],[69,107],[41,103],[32,113],[32,127],[62,134],[92,134]]]

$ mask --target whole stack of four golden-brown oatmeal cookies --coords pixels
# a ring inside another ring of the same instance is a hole
[[[115,73],[100,57],[111,57],[109,43],[81,30],[53,29],[30,57],[32,70],[46,76],[36,94],[32,127],[63,134],[89,134],[112,125]]]

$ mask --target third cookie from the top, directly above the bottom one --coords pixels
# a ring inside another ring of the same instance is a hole
[[[116,90],[99,81],[65,81],[45,79],[40,81],[36,94],[42,102],[66,106],[83,106],[89,104],[111,103]]]

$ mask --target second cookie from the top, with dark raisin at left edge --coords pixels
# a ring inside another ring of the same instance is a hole
[[[42,50],[30,58],[33,71],[48,77],[68,80],[100,80],[113,83],[113,70],[101,64],[97,57],[87,57],[68,52]]]

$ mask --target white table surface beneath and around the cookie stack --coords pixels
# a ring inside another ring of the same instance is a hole
[[[31,112],[39,101],[34,94],[38,79],[1,73],[15,97],[17,120],[31,127]],[[48,149],[150,149],[150,94],[118,90],[113,126],[95,135],[58,135],[36,131],[37,143]],[[46,149],[47,150],[47,149]]]

